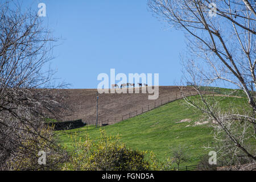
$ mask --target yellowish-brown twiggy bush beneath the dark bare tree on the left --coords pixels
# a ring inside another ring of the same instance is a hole
[[[30,130],[32,132],[32,130]],[[67,152],[55,144],[52,128],[41,129],[38,136],[27,135],[15,152],[15,158],[7,160],[9,170],[42,171],[59,170],[61,164],[68,160]],[[26,150],[25,150],[26,149]],[[40,153],[46,152],[46,164],[39,164]]]

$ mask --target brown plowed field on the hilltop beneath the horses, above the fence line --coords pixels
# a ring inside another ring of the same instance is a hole
[[[195,94],[191,87],[183,87],[186,95]],[[69,99],[67,104],[72,108],[73,114],[63,118],[63,121],[82,119],[85,123],[96,123],[96,94],[97,89],[64,89]],[[99,121],[109,119],[109,122],[118,122],[122,119],[134,117],[148,109],[166,104],[181,98],[178,86],[159,86],[159,98],[148,100],[148,93],[142,94],[99,94],[98,117]],[[136,111],[137,110],[137,111]],[[131,114],[129,114],[131,113]]]

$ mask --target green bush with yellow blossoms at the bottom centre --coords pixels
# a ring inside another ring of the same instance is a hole
[[[151,152],[150,159],[145,159],[145,151],[134,151],[120,142],[119,136],[106,137],[101,130],[100,140],[95,142],[87,136],[84,142],[73,137],[75,150],[64,170],[90,171],[147,171],[160,169],[160,164]]]

